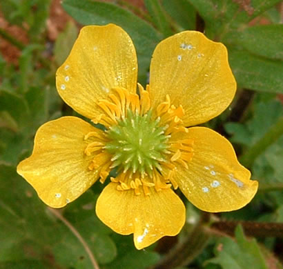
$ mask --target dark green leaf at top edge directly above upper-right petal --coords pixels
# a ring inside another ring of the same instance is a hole
[[[163,0],[162,6],[184,30],[195,30],[196,12],[188,0]]]

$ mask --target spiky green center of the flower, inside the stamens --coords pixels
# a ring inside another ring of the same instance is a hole
[[[111,168],[119,167],[123,172],[140,172],[153,175],[154,168],[162,170],[159,162],[165,162],[168,137],[164,132],[168,126],[159,126],[160,118],[152,119],[151,111],[144,115],[127,110],[127,115],[118,124],[107,130],[109,139],[106,150],[113,155]]]

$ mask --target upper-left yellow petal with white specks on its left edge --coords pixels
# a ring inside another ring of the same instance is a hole
[[[101,114],[99,99],[111,88],[136,92],[137,56],[133,42],[114,24],[81,29],[69,57],[57,70],[57,90],[69,106],[89,119]]]

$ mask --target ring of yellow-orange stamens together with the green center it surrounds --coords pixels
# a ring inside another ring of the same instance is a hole
[[[124,88],[112,88],[106,99],[99,100],[101,114],[95,123],[106,126],[106,131],[89,132],[84,152],[93,159],[90,170],[99,173],[103,183],[112,168],[117,169],[117,190],[133,190],[135,195],[150,195],[154,188],[161,191],[178,188],[174,179],[177,166],[188,169],[193,158],[193,140],[179,139],[183,126],[182,106],[174,106],[170,96],[150,110],[147,90],[138,84],[138,94]],[[103,134],[103,135],[102,135]],[[142,187],[142,188],[141,188]]]

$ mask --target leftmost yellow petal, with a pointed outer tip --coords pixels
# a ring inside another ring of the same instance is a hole
[[[43,124],[35,135],[32,155],[17,172],[37,191],[44,203],[61,208],[84,193],[99,177],[88,166],[84,136],[101,132],[77,117],[62,117]]]

